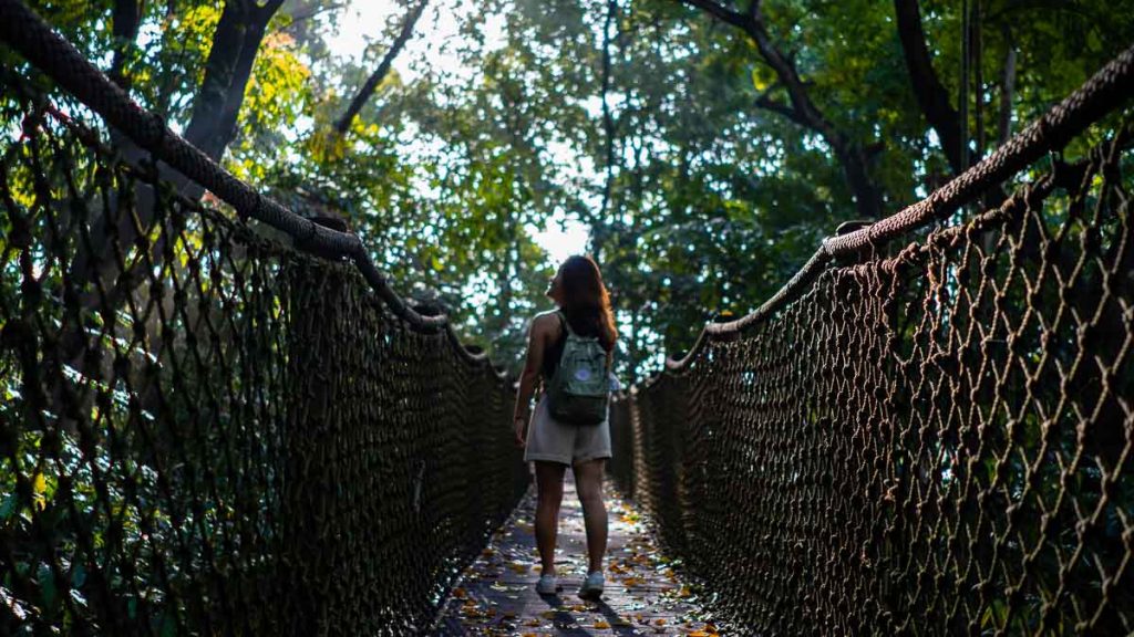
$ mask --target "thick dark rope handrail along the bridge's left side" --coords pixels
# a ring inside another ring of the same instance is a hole
[[[287,233],[298,247],[307,252],[350,258],[396,316],[414,329],[445,330],[449,332],[450,342],[460,342],[452,332],[448,316],[425,316],[406,304],[390,287],[357,235],[340,232],[301,216],[221,168],[209,155],[170,130],[160,116],[135,102],[22,0],[0,0],[0,39],[99,113],[110,126],[156,159],[208,188],[242,216],[255,219]],[[486,354],[474,354],[464,346],[456,349],[469,363],[489,362]]]

